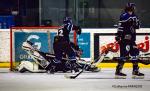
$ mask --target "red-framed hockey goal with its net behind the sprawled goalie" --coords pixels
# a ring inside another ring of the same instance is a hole
[[[59,27],[12,27],[10,30],[10,70],[15,69],[21,61],[33,61],[22,49],[25,41],[33,42],[46,53],[53,53],[53,40]],[[76,34],[70,34],[71,41],[76,41]]]

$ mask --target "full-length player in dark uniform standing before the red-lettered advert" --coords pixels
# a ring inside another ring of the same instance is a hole
[[[116,40],[120,45],[120,60],[116,67],[116,77],[126,77],[126,74],[121,71],[129,55],[132,57],[133,77],[144,77],[144,74],[139,72],[138,59],[136,58],[139,55],[139,50],[135,43],[136,29],[139,28],[140,23],[135,15],[135,4],[127,3],[125,12],[120,15],[118,31],[116,33]]]

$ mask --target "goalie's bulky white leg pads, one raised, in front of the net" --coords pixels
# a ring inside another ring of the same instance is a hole
[[[23,42],[22,49],[27,52],[29,56],[34,61],[23,60],[17,66],[17,70],[21,73],[29,71],[29,72],[44,72],[48,61],[41,55],[42,52],[34,46],[34,44],[30,41]]]

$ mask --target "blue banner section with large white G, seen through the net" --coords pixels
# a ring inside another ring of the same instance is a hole
[[[48,52],[48,35],[47,33],[23,33],[15,32],[15,61],[31,60],[30,56],[22,49],[22,44],[26,40],[30,40],[43,52]]]

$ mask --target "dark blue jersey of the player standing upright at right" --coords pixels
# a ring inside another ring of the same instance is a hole
[[[136,40],[136,29],[140,27],[138,17],[133,13],[123,13],[120,15],[120,20],[118,24],[117,37],[121,40]]]

